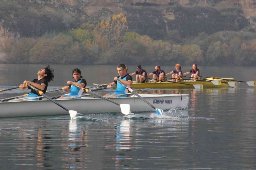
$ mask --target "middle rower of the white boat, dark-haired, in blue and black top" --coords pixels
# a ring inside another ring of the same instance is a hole
[[[85,88],[86,81],[84,79],[82,79],[83,76],[81,76],[81,70],[78,68],[72,70],[72,75],[73,75],[73,78],[75,79],[75,81],[67,81],[68,86],[63,87],[64,92],[67,90],[71,90],[71,92],[68,94],[65,94],[64,96],[61,96],[60,98],[71,97],[71,96],[80,96],[84,92],[82,89],[74,87],[70,84],[70,83],[73,83],[79,87]],[[76,99],[81,99],[81,97],[78,97]]]

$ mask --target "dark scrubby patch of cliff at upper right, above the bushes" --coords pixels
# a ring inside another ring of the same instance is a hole
[[[249,25],[240,9],[218,11],[211,7],[177,6],[168,10],[174,11],[175,20],[169,21],[167,26],[171,30],[179,30],[183,38],[198,36],[200,32],[213,34],[223,30],[239,31]]]

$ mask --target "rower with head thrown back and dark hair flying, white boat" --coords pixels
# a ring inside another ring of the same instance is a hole
[[[37,89],[42,90],[43,93],[45,93],[48,87],[48,82],[52,81],[54,78],[54,70],[50,66],[47,66],[43,69],[40,69],[37,72],[37,75],[38,75],[38,79],[34,79],[32,81],[25,80],[23,84],[20,84],[20,90],[25,90],[26,88],[31,89],[30,87],[26,86],[26,83],[28,83],[36,87]],[[39,96],[41,95],[39,95],[35,90],[31,89],[30,93],[26,97],[39,97]],[[38,100],[38,99],[34,99],[34,100]]]

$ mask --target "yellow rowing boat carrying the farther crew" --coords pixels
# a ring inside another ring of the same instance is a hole
[[[233,82],[232,80],[234,78],[221,78],[221,79],[227,79],[227,80],[221,80],[221,83],[219,85],[214,85],[211,81],[190,81],[190,80],[184,80],[182,82],[146,82],[146,83],[132,83],[131,87],[133,89],[158,89],[158,88],[164,88],[164,89],[176,89],[176,88],[194,88],[194,84],[203,84],[203,88],[210,88],[210,87],[229,87],[228,82]],[[207,78],[207,80],[218,80]],[[110,83],[109,83],[110,84]],[[186,85],[190,84],[190,85]],[[102,87],[107,86],[108,84],[93,84],[93,86]],[[116,86],[113,87],[114,89]]]

